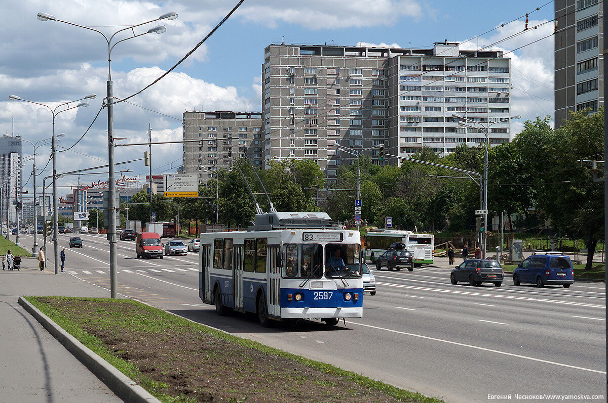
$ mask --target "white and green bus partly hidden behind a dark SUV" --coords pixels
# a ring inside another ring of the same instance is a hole
[[[365,258],[370,262],[376,261],[392,243],[406,244],[412,252],[414,265],[432,265],[435,258],[435,235],[416,234],[412,231],[397,231],[396,229],[378,229],[365,235]]]

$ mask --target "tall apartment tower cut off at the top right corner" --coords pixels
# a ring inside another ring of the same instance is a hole
[[[604,105],[604,19],[598,0],[555,1],[555,124]]]

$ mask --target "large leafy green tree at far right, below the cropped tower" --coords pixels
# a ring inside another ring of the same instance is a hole
[[[539,204],[554,228],[586,240],[590,269],[598,240],[604,239],[604,185],[593,181],[589,164],[582,160],[603,158],[604,109],[570,112],[570,120],[555,131],[547,151],[550,160]]]

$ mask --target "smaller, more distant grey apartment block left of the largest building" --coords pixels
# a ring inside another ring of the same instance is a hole
[[[255,166],[263,166],[261,119],[260,112],[184,112],[183,139],[201,142],[184,143],[182,171],[198,174],[204,183],[220,169],[232,170],[233,158],[247,155]]]

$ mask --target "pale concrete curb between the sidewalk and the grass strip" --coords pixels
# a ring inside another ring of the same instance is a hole
[[[108,385],[119,398],[133,403],[161,403],[161,401],[150,395],[147,390],[137,385],[133,379],[128,378],[128,376],[112,367],[112,365],[108,364],[102,357],[95,354],[74,336],[59,327],[57,323],[53,322],[29,301],[23,297],[19,297],[18,302],[19,305],[35,317],[36,320],[55,337],[55,339],[59,340],[67,351],[72,353],[78,361],[85,364],[85,367],[89,368],[97,378]]]

